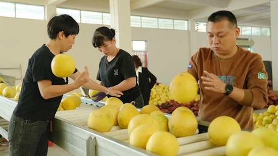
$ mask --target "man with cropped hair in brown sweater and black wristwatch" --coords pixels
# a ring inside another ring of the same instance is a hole
[[[200,120],[229,116],[241,128],[253,130],[253,109],[264,108],[268,101],[267,73],[260,55],[236,45],[239,35],[233,13],[211,14],[210,47],[200,48],[191,58],[188,72],[200,82]]]

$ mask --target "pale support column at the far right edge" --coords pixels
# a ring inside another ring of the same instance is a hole
[[[278,90],[278,1],[270,1],[270,19],[271,19],[271,64],[272,64],[272,84],[273,90]]]

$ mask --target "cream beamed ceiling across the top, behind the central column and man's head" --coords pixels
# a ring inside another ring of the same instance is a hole
[[[45,1],[57,7],[110,11],[110,0]],[[270,27],[270,2],[271,0],[130,0],[130,13],[137,16],[206,22],[213,12],[228,10],[235,14],[239,25]]]

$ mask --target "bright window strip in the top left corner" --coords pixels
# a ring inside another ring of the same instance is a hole
[[[0,16],[44,20],[44,7],[0,1]]]

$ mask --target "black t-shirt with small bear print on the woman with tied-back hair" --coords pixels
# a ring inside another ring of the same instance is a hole
[[[104,56],[99,64],[97,80],[102,81],[105,87],[115,86],[129,77],[136,77],[134,61],[130,54],[120,49],[116,57],[111,61],[106,61]],[[136,81],[137,82],[137,81]],[[123,95],[118,97],[123,103],[135,101],[141,92],[138,84],[133,88],[123,91]],[[111,97],[108,95],[108,97]]]

